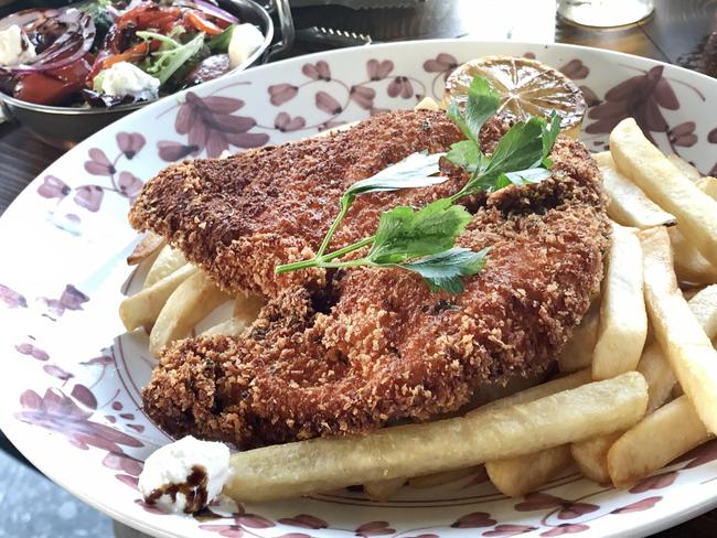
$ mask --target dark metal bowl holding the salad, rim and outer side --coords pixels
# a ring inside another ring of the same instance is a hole
[[[288,0],[275,0],[279,39],[274,45],[274,21],[266,8],[252,0],[218,0],[220,7],[261,30],[264,43],[247,61],[229,73],[268,62],[288,50],[293,42],[293,21]],[[201,86],[197,85],[197,86]],[[171,96],[170,96],[171,97]],[[51,107],[15,99],[0,92],[2,111],[8,119],[24,126],[35,137],[56,148],[69,149],[77,142],[149,103],[113,108]],[[153,101],[152,101],[153,103]]]

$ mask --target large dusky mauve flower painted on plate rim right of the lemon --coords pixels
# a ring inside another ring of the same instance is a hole
[[[588,112],[588,118],[597,121],[585,131],[590,134],[607,133],[623,119],[633,117],[651,140],[651,131],[667,132],[667,121],[660,107],[676,110],[679,103],[672,86],[662,76],[663,71],[664,67],[657,65],[644,75],[633,76],[611,88],[604,95],[606,101]]]

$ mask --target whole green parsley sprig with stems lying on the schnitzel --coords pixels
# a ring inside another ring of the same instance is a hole
[[[368,266],[402,268],[420,275],[431,291],[463,291],[462,277],[479,272],[485,265],[490,248],[475,252],[456,247],[456,239],[471,220],[468,211],[456,203],[463,196],[479,192],[495,192],[513,185],[538,183],[550,175],[553,165],[548,154],[560,131],[560,121],[554,111],[550,121],[529,118],[518,121],[500,139],[493,153],[483,154],[479,133],[500,106],[497,92],[482,77],[474,77],[464,107],[452,100],[448,117],[465,136],[447,153],[428,154],[422,151],[382,170],[366,180],[354,183],[341,197],[341,209],[331,224],[319,250],[311,259],[286,263],[277,273],[310,267],[349,268]],[[396,191],[442,183],[436,176],[441,158],[471,173],[456,194],[439,198],[420,209],[397,206],[381,215],[376,234],[327,254],[333,234],[345,217],[356,196],[379,191]],[[371,245],[368,252],[356,259],[336,261],[354,250]]]

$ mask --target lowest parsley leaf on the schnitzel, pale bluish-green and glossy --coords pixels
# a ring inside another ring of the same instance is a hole
[[[480,272],[485,266],[489,250],[490,248],[483,248],[474,252],[469,248],[453,247],[399,267],[424,277],[431,291],[446,290],[449,293],[461,293],[464,289],[461,277]]]

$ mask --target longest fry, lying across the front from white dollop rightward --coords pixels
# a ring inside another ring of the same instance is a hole
[[[269,501],[475,465],[627,429],[646,405],[646,384],[631,372],[467,417],[238,452],[224,493]]]

